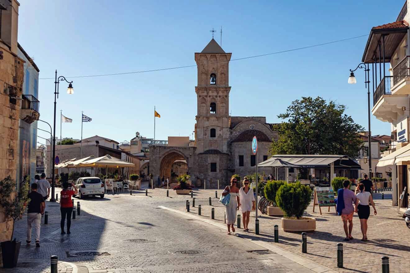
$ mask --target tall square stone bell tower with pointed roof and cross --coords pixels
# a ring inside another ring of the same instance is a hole
[[[212,38],[200,53],[195,53],[198,68],[195,140],[197,153],[229,153],[229,61]]]

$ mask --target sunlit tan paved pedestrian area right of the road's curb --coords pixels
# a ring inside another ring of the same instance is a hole
[[[222,190],[218,191],[220,196]],[[185,202],[190,201],[190,214],[198,214],[198,205],[202,207],[203,219],[210,219],[211,208],[215,208],[216,222],[223,223],[224,206],[218,203],[215,198],[215,190],[195,190],[194,198],[196,199],[196,208],[192,208],[192,200],[190,195],[176,195],[173,190],[170,190],[170,197],[166,198],[166,190],[155,189],[150,190],[150,196],[153,199],[162,199],[164,206],[178,209],[181,212],[186,212]],[[208,198],[212,197],[212,207],[209,206]],[[345,238],[342,221],[340,216],[335,214],[335,208],[331,208],[328,212],[327,208],[322,208],[322,215],[319,214],[319,209],[316,206],[315,212],[312,212],[312,204],[307,208],[307,216],[316,218],[316,231],[307,233],[307,252],[301,252],[301,234],[283,232],[281,229],[280,217],[269,217],[267,215],[258,214],[260,222],[260,235],[255,235],[255,212],[251,213],[249,223],[250,232],[241,232],[237,230],[237,234],[246,239],[255,241],[265,241],[273,243],[273,226],[279,226],[279,244],[281,248],[296,253],[302,257],[310,259],[314,262],[328,266],[333,270],[341,273],[345,272],[381,272],[381,257],[389,256],[390,272],[407,272],[410,268],[408,259],[410,254],[410,241],[407,240],[407,235],[410,230],[405,226],[402,214],[397,212],[397,207],[392,206],[391,192],[384,193],[384,200],[381,200],[381,194],[374,194],[377,216],[372,215],[368,221],[368,237],[369,241],[363,242],[360,239],[360,221],[357,214],[353,218],[353,241],[343,241]],[[175,202],[178,200],[178,202]],[[238,214],[241,214],[238,211]],[[236,226],[236,225],[235,225]],[[400,235],[405,235],[401,237]],[[344,266],[345,268],[337,268],[337,243],[344,244]],[[275,244],[277,245],[277,244]]]

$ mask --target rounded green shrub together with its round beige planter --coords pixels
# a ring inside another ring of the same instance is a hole
[[[281,185],[276,192],[276,204],[285,212],[282,229],[285,232],[312,232],[316,229],[316,219],[302,217],[310,203],[312,190],[301,183]]]

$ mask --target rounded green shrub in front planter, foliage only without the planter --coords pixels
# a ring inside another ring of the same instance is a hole
[[[285,217],[300,219],[310,203],[312,190],[301,183],[283,184],[276,192],[276,204],[285,212]]]

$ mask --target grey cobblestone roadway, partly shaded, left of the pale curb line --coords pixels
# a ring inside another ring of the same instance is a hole
[[[81,200],[71,235],[59,234],[58,204],[47,203],[41,247],[22,246],[19,267],[4,272],[50,272],[51,255],[62,261],[59,272],[313,272],[208,223],[159,208],[180,207],[187,197],[170,195],[155,189],[148,196],[134,191]],[[25,241],[25,218],[16,223],[15,237]]]

